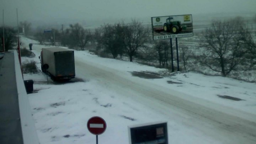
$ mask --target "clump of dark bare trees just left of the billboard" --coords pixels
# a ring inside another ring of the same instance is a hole
[[[130,62],[141,47],[145,47],[149,36],[149,29],[141,22],[133,20],[132,23],[105,24],[96,29],[95,39],[98,47],[111,53],[113,58],[126,54]]]

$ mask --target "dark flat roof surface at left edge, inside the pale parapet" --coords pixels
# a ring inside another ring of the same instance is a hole
[[[0,144],[23,144],[14,52],[0,59]]]

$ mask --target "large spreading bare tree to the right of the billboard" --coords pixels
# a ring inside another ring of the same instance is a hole
[[[201,37],[202,55],[197,58],[208,68],[228,75],[233,70],[241,70],[245,64],[245,33],[244,21],[237,17],[229,21],[213,21]]]

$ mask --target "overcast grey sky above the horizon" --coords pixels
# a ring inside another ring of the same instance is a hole
[[[256,0],[0,0],[6,25],[19,21],[42,23],[124,20],[183,14],[242,13],[256,14]],[[102,23],[103,24],[103,23]]]

